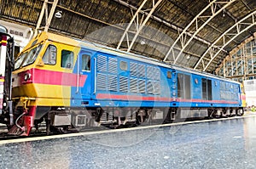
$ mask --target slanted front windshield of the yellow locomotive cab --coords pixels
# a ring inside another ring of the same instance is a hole
[[[15,61],[15,70],[19,69],[21,66],[24,67],[32,64],[37,59],[41,47],[42,45],[38,45],[38,47],[32,48],[29,52],[21,54],[20,57]]]

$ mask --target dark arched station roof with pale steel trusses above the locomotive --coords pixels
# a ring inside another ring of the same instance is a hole
[[[44,5],[49,31],[208,72],[256,31],[255,0],[2,0],[0,15],[36,28]]]

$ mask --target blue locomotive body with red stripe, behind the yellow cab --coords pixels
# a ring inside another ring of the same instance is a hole
[[[72,87],[72,107],[160,110],[163,119],[242,114],[238,82],[119,51],[82,48],[80,60],[84,54],[90,70],[78,59],[73,73],[87,78],[84,87]]]

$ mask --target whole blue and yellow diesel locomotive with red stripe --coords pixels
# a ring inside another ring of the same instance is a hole
[[[9,86],[0,105],[9,134],[243,114],[239,82],[44,31],[11,70],[9,82],[0,78]]]

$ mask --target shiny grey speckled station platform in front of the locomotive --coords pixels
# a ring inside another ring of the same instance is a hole
[[[0,168],[256,168],[255,115],[105,132],[0,141]]]

